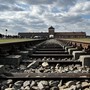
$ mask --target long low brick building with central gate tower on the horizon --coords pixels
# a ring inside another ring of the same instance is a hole
[[[23,38],[85,38],[85,32],[55,32],[52,26],[48,28],[48,32],[21,32],[18,33]]]

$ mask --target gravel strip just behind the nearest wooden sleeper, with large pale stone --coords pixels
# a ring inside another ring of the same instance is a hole
[[[82,67],[80,64],[61,65],[49,64],[48,62],[39,63],[33,61],[29,64],[21,64],[19,67],[6,65],[5,70],[9,72],[27,72],[27,73],[90,73],[89,67]]]

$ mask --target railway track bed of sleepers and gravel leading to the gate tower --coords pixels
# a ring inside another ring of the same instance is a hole
[[[90,90],[90,67],[73,59],[66,46],[75,48],[55,39],[31,48],[23,45],[19,51],[28,51],[28,54],[20,55],[27,58],[21,58],[17,66],[3,65],[1,90]]]

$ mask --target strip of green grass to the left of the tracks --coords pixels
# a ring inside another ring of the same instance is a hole
[[[35,39],[0,39],[1,43],[12,43],[12,42],[22,42],[22,41],[32,41]]]

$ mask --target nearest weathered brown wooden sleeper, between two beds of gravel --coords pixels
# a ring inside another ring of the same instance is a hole
[[[90,73],[12,73],[7,78],[90,78]]]

